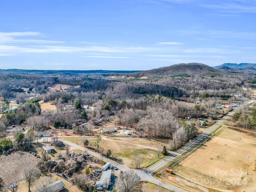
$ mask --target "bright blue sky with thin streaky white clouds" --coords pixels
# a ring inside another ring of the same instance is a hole
[[[256,0],[0,1],[0,68],[256,63]]]

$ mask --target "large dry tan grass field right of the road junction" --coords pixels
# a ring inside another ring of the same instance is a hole
[[[218,136],[174,167],[174,172],[192,183],[220,191],[255,191],[255,146],[256,138],[224,128]],[[168,179],[177,180],[172,176]]]

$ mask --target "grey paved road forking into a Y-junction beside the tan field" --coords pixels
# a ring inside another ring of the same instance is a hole
[[[167,164],[169,164],[169,162],[171,160],[174,160],[174,158],[178,157],[178,156],[181,156],[183,153],[187,153],[190,149],[190,147],[193,147],[194,145],[196,145],[197,143],[201,142],[202,140],[206,139],[206,137],[211,134],[218,126],[220,126],[220,124],[222,124],[226,119],[228,119],[230,116],[232,116],[234,114],[234,111],[233,112],[230,112],[229,114],[227,114],[226,116],[224,116],[222,119],[220,119],[218,122],[216,122],[213,126],[211,126],[204,134],[198,136],[196,139],[192,140],[190,142],[190,144],[184,146],[183,148],[181,148],[180,150],[178,150],[177,152],[175,152],[174,154],[171,154],[170,156],[164,158],[162,161],[158,162],[157,164],[155,164],[154,166],[148,168],[147,170],[134,170],[142,180],[145,180],[145,181],[149,181],[149,182],[152,182],[156,185],[159,185],[159,186],[162,186],[168,190],[172,190],[172,191],[175,191],[175,192],[185,192],[184,190],[180,189],[180,188],[177,188],[177,187],[174,187],[174,186],[170,186],[168,184],[165,184],[163,182],[160,182],[159,180],[157,180],[156,178],[153,178],[152,177],[152,173],[155,172],[156,170],[160,169],[161,167],[163,166],[167,166]],[[98,158],[101,158],[103,159],[104,161],[106,162],[111,162],[111,164],[117,166],[119,169],[121,170],[132,170],[132,169],[129,169],[125,166],[122,166],[121,164],[118,164],[117,162],[114,162],[108,158],[105,158],[103,156],[101,156],[100,154],[96,153],[96,152],[93,152],[91,150],[88,150],[82,146],[79,146],[77,144],[74,144],[72,142],[68,142],[68,141],[65,141],[65,140],[61,140],[64,144],[68,144],[70,146],[73,146],[75,148],[78,148],[82,151],[87,151],[89,154],[95,156],[95,157],[98,157]]]

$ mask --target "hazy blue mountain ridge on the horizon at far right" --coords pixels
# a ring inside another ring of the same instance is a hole
[[[255,72],[255,63],[224,63],[219,66],[213,67],[214,69],[225,70],[225,71],[243,71],[243,72]]]

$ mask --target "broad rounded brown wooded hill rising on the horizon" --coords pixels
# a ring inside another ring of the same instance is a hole
[[[223,71],[214,69],[201,63],[176,64],[157,69],[131,73],[129,76],[136,78],[148,77],[168,77],[168,76],[202,76],[204,74],[223,74]]]

